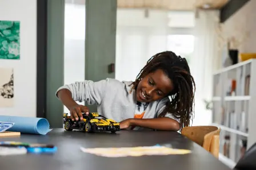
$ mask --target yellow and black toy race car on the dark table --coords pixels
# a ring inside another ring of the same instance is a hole
[[[72,121],[67,113],[63,114],[63,123],[66,131],[83,130],[85,132],[110,131],[112,133],[119,131],[119,123],[112,119],[107,119],[98,113],[83,113],[82,121]]]

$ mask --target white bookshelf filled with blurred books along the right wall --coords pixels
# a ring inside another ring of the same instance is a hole
[[[213,126],[221,128],[219,160],[233,168],[256,142],[256,59],[213,74]]]

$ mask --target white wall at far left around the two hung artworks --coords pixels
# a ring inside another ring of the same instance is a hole
[[[1,0],[0,20],[21,22],[20,60],[0,60],[0,68],[14,68],[14,106],[0,107],[0,115],[36,117],[37,1]]]

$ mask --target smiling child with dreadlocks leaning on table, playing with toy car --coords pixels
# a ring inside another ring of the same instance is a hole
[[[178,131],[194,114],[195,83],[186,59],[166,51],[151,57],[133,82],[111,78],[62,86],[57,97],[78,121],[86,106],[97,103],[98,113],[120,122],[120,128]]]

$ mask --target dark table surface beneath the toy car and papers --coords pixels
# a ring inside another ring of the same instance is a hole
[[[191,140],[178,132],[166,131],[119,131],[116,134],[81,131],[65,131],[56,128],[47,135],[27,135],[20,137],[0,138],[0,140],[21,141],[29,143],[55,144],[58,151],[53,155],[26,154],[1,156],[1,169],[19,170],[70,170],[70,169],[207,169],[230,170]],[[139,157],[103,157],[87,154],[80,147],[135,147],[171,144],[173,148],[191,150],[191,154]]]

